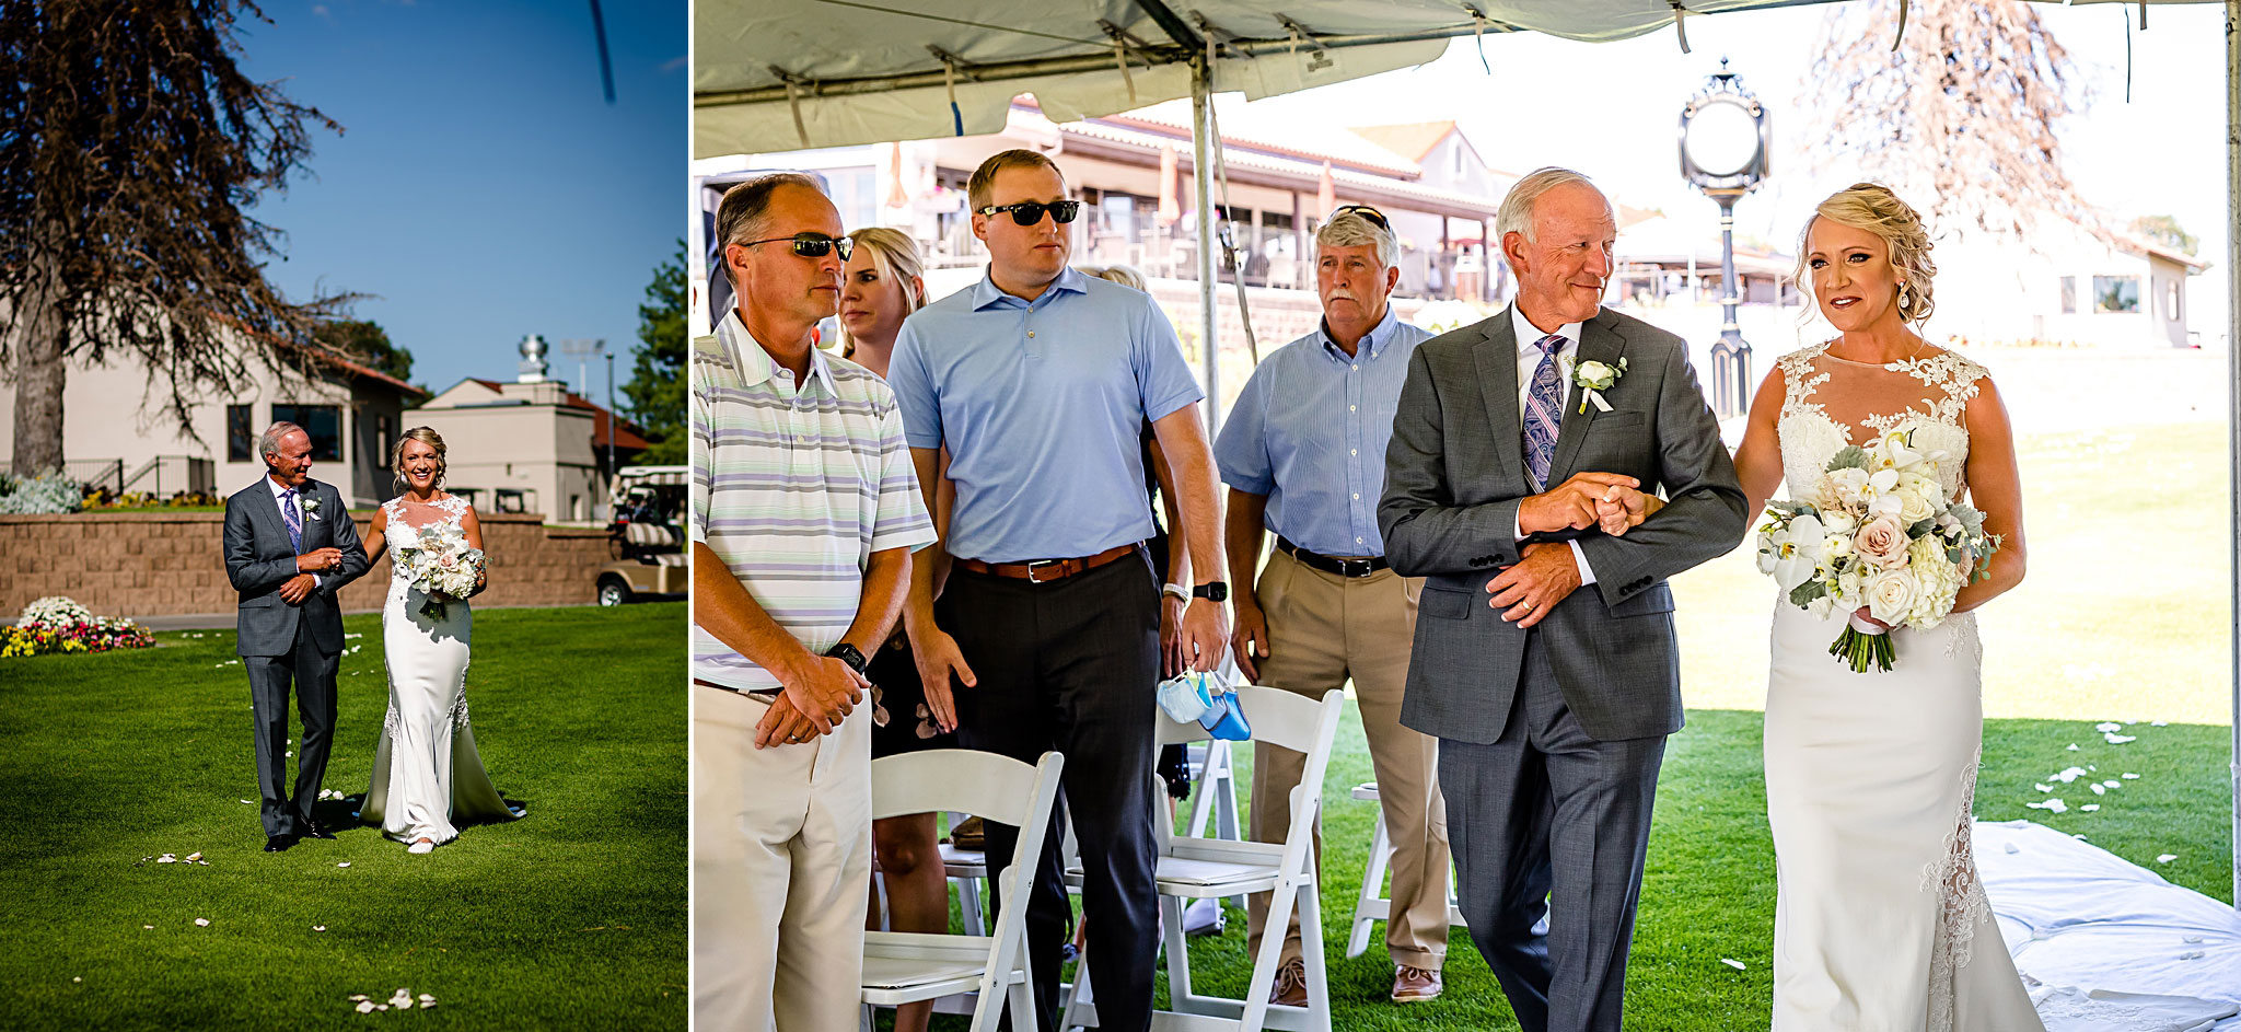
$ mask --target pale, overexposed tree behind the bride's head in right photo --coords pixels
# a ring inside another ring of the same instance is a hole
[[[1811,159],[1853,166],[1956,233],[2028,240],[2100,220],[2062,171],[2077,70],[2021,0],[1862,0],[1822,20],[1806,79]],[[1894,34],[1898,47],[1891,47]]]

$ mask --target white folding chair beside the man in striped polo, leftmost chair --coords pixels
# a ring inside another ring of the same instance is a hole
[[[872,761],[872,819],[964,810],[1020,828],[1011,866],[995,875],[1006,900],[1024,900],[1035,882],[1042,832],[1058,801],[1064,756],[1026,763],[973,749],[926,749]],[[1006,1003],[1011,1028],[1035,1032],[1035,987],[1026,958],[1026,906],[1006,906],[993,936],[863,933],[863,1028],[872,1007],[977,992],[973,1032],[995,1032]]]

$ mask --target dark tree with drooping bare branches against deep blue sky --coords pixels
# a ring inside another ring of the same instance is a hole
[[[314,375],[320,319],[264,278],[280,233],[249,215],[309,157],[314,108],[240,70],[251,0],[0,2],[0,375],[13,469],[63,462],[74,361],[148,368],[148,402],[190,440],[197,399],[262,366]]]

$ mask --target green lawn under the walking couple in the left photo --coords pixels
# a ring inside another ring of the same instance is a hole
[[[359,796],[388,687],[379,615],[345,628],[325,783]],[[529,817],[426,857],[341,803],[336,841],[262,853],[231,630],[0,662],[0,1023],[356,1028],[347,996],[410,987],[439,1001],[415,1028],[684,1028],[684,603],[480,612],[475,736]]]

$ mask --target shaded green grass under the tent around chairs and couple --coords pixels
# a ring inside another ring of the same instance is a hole
[[[1661,1032],[1735,1032],[1766,1028],[1773,994],[1775,848],[1766,832],[1766,776],[1759,758],[1761,713],[1732,709],[1690,711],[1672,736],[1658,778],[1649,870],[1627,969],[1627,1025]],[[2230,893],[2225,729],[2205,725],[2133,725],[2133,743],[2109,745],[2091,720],[1988,720],[1977,817],[2033,819],[2140,864],[2176,884],[2225,900]],[[2068,752],[2068,745],[2077,752]],[[1239,805],[1250,808],[1250,749],[1239,749]],[[2091,796],[2084,778],[2057,785],[2066,814],[2030,810],[2046,799],[2033,785],[2071,767],[2124,781],[2122,790]],[[1324,853],[1322,915],[1331,967],[1333,1028],[1347,1032],[1398,1030],[1515,1030],[1510,1005],[1486,960],[1457,929],[1448,940],[1445,994],[1434,1003],[1396,1007],[1385,927],[1376,924],[1369,951],[1342,958],[1354,895],[1369,855],[1376,803],[1347,792],[1371,781],[1360,718],[1347,707],[1338,749],[1322,787]],[[2066,790],[2066,792],[2062,792]],[[2082,801],[2102,805],[2080,812]],[[1188,817],[1188,808],[1183,810]],[[2158,855],[2178,859],[2156,864]],[[1199,992],[1242,996],[1250,958],[1246,918],[1230,909],[1228,931],[1190,947]],[[1735,969],[1723,960],[1741,960]],[[1165,985],[1165,980],[1161,980]],[[1159,992],[1165,1005],[1165,989]],[[955,1021],[955,1023],[952,1023]],[[964,1019],[937,1016],[937,1030],[961,1030]]]

